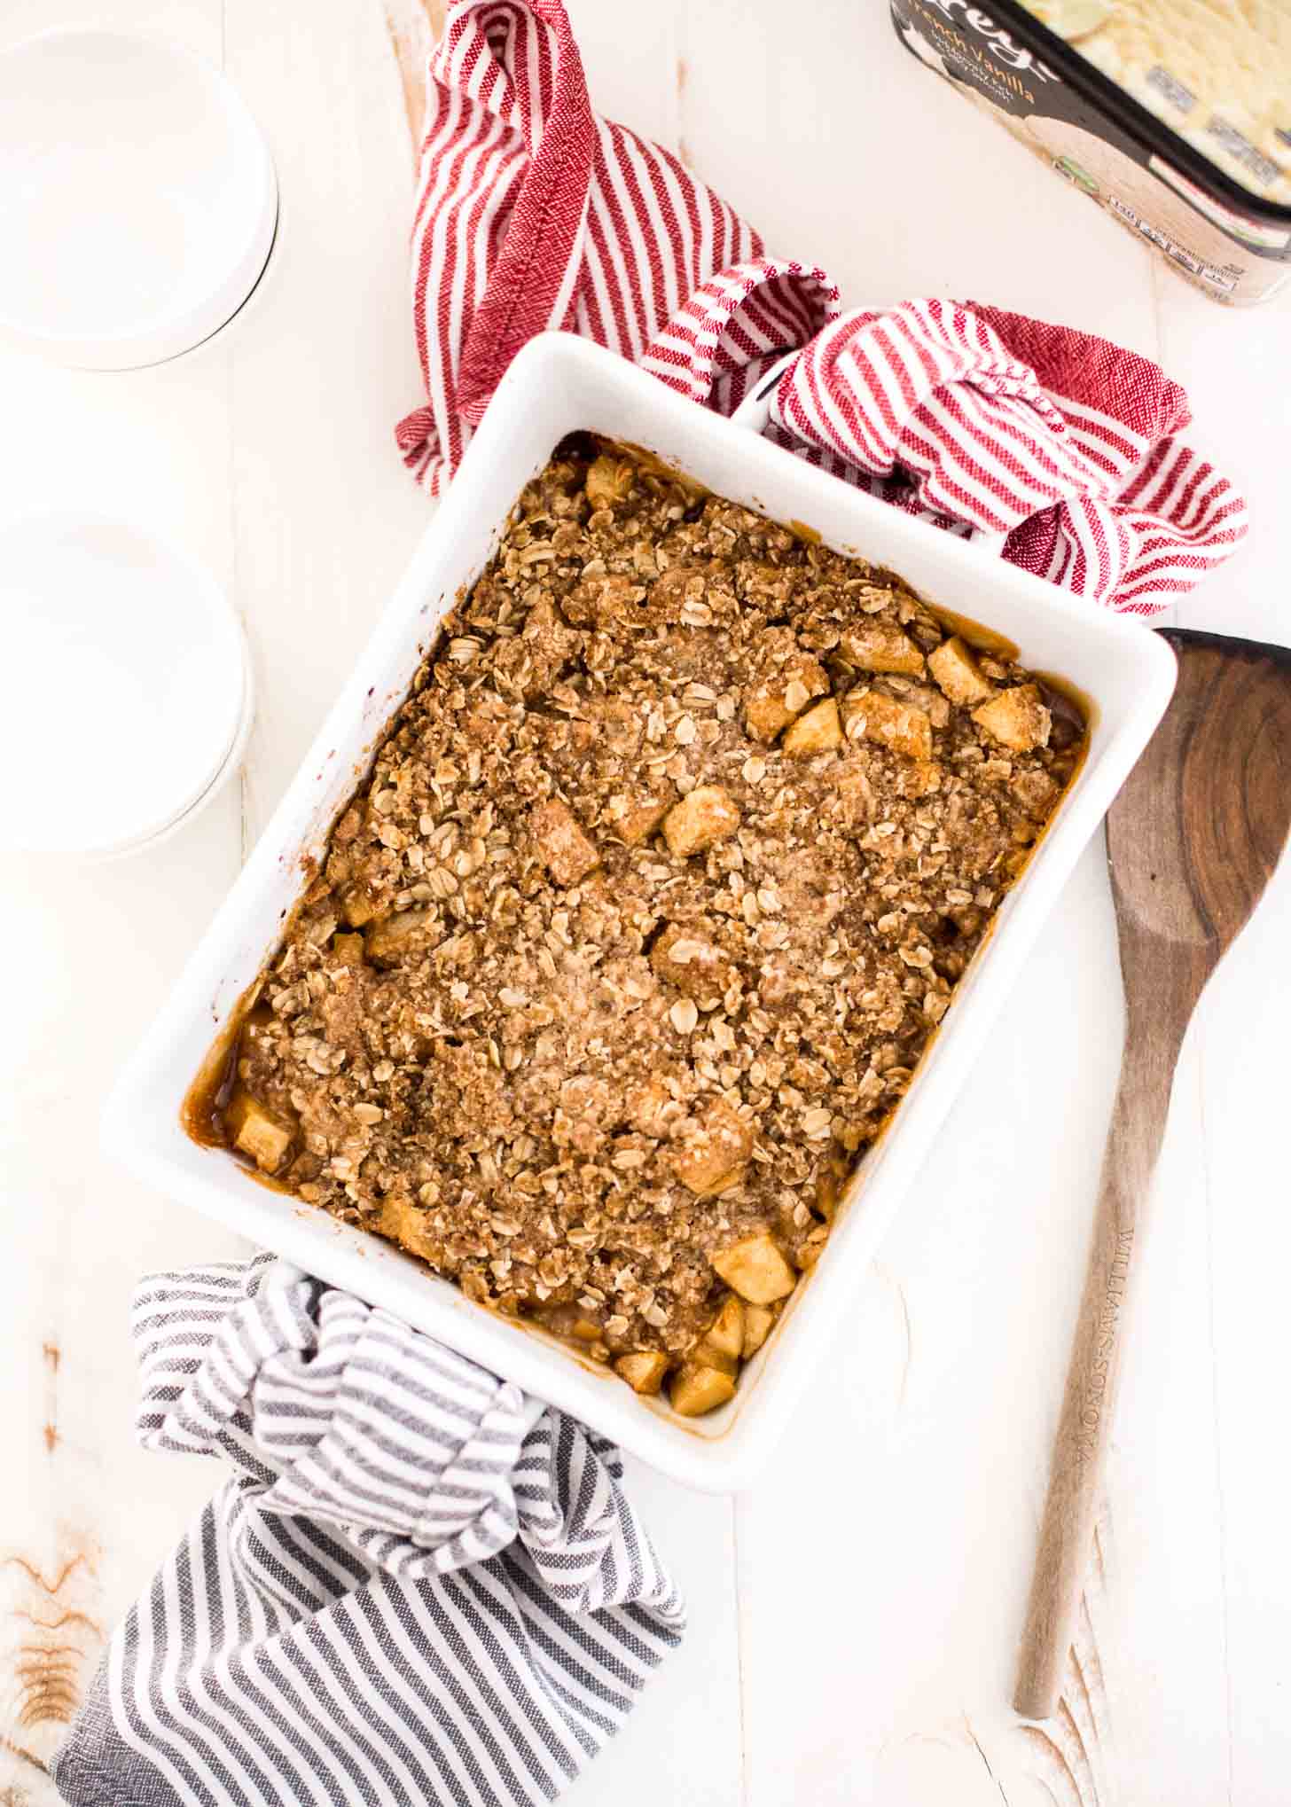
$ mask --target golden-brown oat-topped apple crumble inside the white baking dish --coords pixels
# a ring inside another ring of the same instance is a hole
[[[215,1138],[707,1411],[1083,737],[890,573],[566,441],[336,822]]]

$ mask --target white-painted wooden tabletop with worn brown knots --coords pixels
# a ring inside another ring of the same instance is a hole
[[[112,1171],[99,1099],[427,519],[391,435],[419,379],[380,0],[67,11],[221,60],[269,136],[282,224],[250,314],[193,356],[87,376],[0,352],[0,515],[56,497],[168,529],[235,596],[260,688],[240,786],[179,838],[119,866],[0,862],[9,1807],[54,1800],[42,1765],[103,1634],[217,1482],[132,1446],[127,1301],[139,1272],[235,1245]],[[598,105],[682,150],[848,302],[984,298],[1161,358],[1255,515],[1179,620],[1287,638],[1287,305],[1226,313],[1184,287],[899,51],[881,0],[571,13]],[[0,42],[54,16],[5,0]],[[5,782],[38,784],[38,764]],[[633,1473],[691,1634],[573,1802],[1291,1798],[1289,929],[1284,869],[1184,1053],[1072,1706],[1045,1731],[1005,1709],[1117,1063],[1099,847],[776,1465],[734,1502]]]

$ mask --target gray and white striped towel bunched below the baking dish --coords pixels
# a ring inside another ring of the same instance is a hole
[[[685,1608],[613,1444],[259,1256],[136,1294],[137,1429],[237,1469],[54,1762],[85,1807],[510,1807],[586,1767]]]

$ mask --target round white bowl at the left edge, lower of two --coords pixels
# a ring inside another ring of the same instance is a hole
[[[0,529],[0,846],[107,855],[152,840],[226,772],[250,683],[213,576],[119,520]]]

